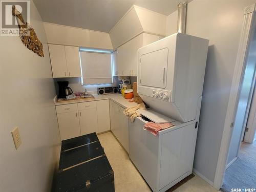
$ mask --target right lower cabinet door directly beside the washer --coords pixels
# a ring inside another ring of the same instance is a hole
[[[129,118],[123,113],[124,109],[118,108],[118,127],[120,129],[119,142],[123,145],[126,152],[129,153]]]

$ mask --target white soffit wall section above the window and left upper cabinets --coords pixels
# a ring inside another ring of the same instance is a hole
[[[109,33],[44,23],[49,44],[112,49]]]

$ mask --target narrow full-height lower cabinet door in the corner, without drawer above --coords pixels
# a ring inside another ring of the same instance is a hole
[[[97,118],[98,118],[98,132],[105,132],[110,130],[110,105],[109,99],[96,102]]]

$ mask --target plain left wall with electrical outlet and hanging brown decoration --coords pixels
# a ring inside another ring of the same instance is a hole
[[[18,36],[0,36],[0,191],[50,191],[60,137],[47,40],[31,1],[31,26],[45,57],[28,50]],[[19,127],[15,150],[11,131]]]

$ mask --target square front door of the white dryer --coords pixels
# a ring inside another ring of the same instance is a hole
[[[167,79],[167,64],[168,48],[142,55],[140,58],[141,85],[164,89]]]

